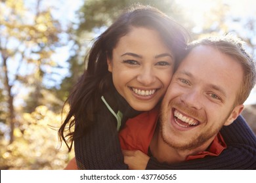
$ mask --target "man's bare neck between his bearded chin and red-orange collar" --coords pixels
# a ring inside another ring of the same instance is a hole
[[[177,163],[185,161],[186,158],[190,155],[195,155],[198,154],[198,152],[205,151],[213,139],[210,139],[202,146],[193,150],[179,150],[169,146],[166,142],[164,142],[159,127],[156,127],[156,131],[152,141],[150,142],[150,151],[154,158],[158,159],[160,162]]]

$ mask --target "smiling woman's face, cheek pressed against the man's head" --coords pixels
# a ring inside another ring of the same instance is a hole
[[[174,56],[158,33],[144,27],[133,27],[119,39],[108,59],[117,92],[135,110],[156,106],[165,94],[173,76]]]

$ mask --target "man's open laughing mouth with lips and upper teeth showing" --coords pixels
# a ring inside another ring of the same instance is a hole
[[[195,120],[194,118],[186,114],[182,114],[181,112],[179,112],[179,110],[175,108],[173,110],[173,116],[174,116],[175,122],[181,127],[194,127],[200,124],[198,120]]]

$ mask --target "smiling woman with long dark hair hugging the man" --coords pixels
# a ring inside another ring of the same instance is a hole
[[[186,42],[186,31],[179,24],[150,7],[122,14],[96,39],[59,131],[67,144],[64,128],[75,124],[68,137],[75,142],[79,169],[127,169],[117,130],[128,118],[158,105]],[[174,167],[184,169],[186,163]],[[161,166],[150,158],[148,168]],[[189,167],[197,169],[198,164]]]

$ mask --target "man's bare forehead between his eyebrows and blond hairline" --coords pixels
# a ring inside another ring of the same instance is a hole
[[[212,46],[197,46],[184,58],[177,74],[184,75],[209,84],[211,88],[220,90],[238,89],[243,79],[242,65]],[[226,94],[225,94],[226,95]]]

